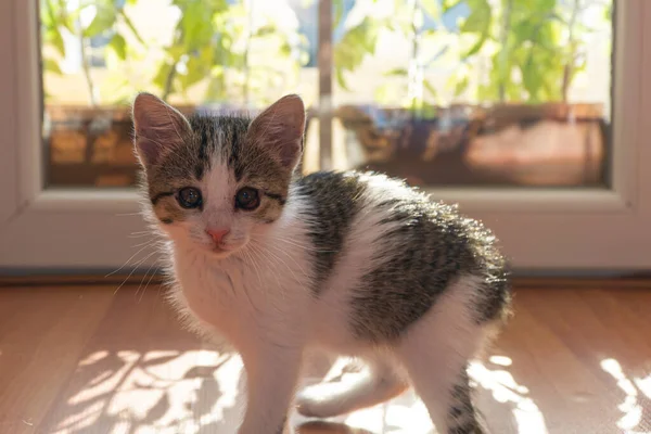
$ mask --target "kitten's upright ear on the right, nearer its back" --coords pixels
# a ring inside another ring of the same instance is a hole
[[[294,169],[303,152],[305,106],[297,94],[289,94],[260,113],[248,127],[252,143],[269,149],[283,166]]]

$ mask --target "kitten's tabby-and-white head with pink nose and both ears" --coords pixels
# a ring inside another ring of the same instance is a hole
[[[280,218],[303,149],[299,97],[286,95],[254,119],[186,118],[141,93],[133,125],[148,214],[176,244],[226,257]]]

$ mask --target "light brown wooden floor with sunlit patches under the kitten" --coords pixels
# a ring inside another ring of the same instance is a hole
[[[518,289],[515,318],[471,371],[494,433],[651,432],[651,283],[638,286]],[[0,288],[1,434],[234,432],[239,358],[180,330],[157,289],[136,290]],[[412,393],[293,421],[305,434],[434,432]]]

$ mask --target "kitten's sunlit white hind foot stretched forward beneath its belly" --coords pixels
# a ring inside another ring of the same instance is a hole
[[[384,403],[407,387],[392,365],[373,360],[367,369],[346,374],[342,381],[306,387],[296,396],[296,406],[303,416],[331,418]]]

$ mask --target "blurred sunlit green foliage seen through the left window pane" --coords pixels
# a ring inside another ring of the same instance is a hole
[[[286,81],[290,72],[296,76],[307,62],[306,39],[291,20],[258,16],[254,26],[251,8],[244,0],[171,0],[169,4],[179,11],[179,18],[169,43],[163,47],[156,44],[157,41],[144,41],[138,31],[139,23],[129,18],[129,8],[137,7],[139,0],[80,0],[75,8],[71,8],[71,3],[65,0],[40,2],[42,41],[54,49],[49,52],[55,53],[43,58],[43,67],[61,74],[68,54],[63,37],[67,33],[81,41],[85,75],[91,82],[87,61],[91,38],[110,38],[106,48],[113,62],[108,66],[117,74],[105,80],[106,86],[114,81],[114,87],[123,88],[111,102],[120,102],[125,93],[141,90],[124,90],[130,85],[125,72],[142,61],[142,52],[151,50],[162,51],[158,64],[150,66],[141,62],[139,65],[151,69],[151,77],[145,81],[164,99],[173,94],[187,98],[187,92],[201,82],[206,89],[204,99],[209,102],[266,102],[266,90]],[[93,18],[82,26],[79,17],[86,10]],[[130,49],[128,41],[133,40],[140,43],[140,53]]]

